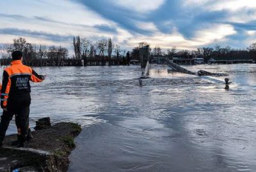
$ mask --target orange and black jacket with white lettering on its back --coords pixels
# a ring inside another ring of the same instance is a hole
[[[31,92],[29,80],[32,82],[42,82],[44,76],[38,75],[32,68],[23,65],[20,60],[12,61],[11,66],[5,68],[3,72],[1,108],[7,106],[9,97],[29,94]]]

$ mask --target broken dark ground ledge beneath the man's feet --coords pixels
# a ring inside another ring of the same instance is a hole
[[[0,172],[19,169],[22,171],[67,171],[68,155],[75,147],[74,137],[81,132],[81,126],[61,122],[47,129],[34,131],[34,139],[25,148],[12,147],[16,135],[6,136],[4,147],[0,148]]]

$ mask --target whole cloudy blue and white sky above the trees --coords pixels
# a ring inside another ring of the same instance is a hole
[[[73,36],[112,38],[128,50],[256,42],[255,0],[0,0],[0,43],[71,47]]]

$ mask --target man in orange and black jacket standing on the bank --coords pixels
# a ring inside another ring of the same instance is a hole
[[[15,123],[18,130],[18,147],[24,147],[27,133],[27,122],[29,118],[29,106],[31,103],[31,82],[42,82],[45,76],[38,75],[32,68],[22,64],[22,52],[12,53],[11,66],[4,69],[3,83],[1,89],[1,108],[3,115],[0,122],[0,146],[15,115]]]

